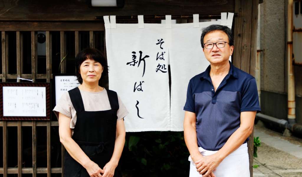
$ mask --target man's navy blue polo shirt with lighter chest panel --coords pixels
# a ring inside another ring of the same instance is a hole
[[[196,114],[198,146],[216,151],[239,128],[241,112],[261,109],[253,76],[230,63],[229,73],[215,92],[210,69],[190,80],[184,110]]]

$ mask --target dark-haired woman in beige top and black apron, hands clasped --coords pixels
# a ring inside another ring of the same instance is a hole
[[[108,66],[101,52],[82,50],[76,56],[81,85],[66,92],[53,109],[59,119],[60,141],[67,150],[66,177],[121,176],[118,162],[128,111],[116,92],[99,86],[102,73],[108,74]]]

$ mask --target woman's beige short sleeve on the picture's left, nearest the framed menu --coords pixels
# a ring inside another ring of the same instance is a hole
[[[72,118],[72,111],[73,106],[69,97],[69,93],[66,92],[62,95],[62,97],[59,99],[59,102],[53,108],[53,112],[56,114],[56,117],[59,119],[59,112],[66,115],[69,118]]]

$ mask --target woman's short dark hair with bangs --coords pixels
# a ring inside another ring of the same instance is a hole
[[[101,63],[101,65],[103,66],[102,76],[101,79],[99,80],[99,85],[100,85],[101,81],[108,75],[108,65],[107,65],[107,60],[104,57],[103,53],[101,53],[101,51],[99,51],[98,49],[94,49],[94,48],[84,49],[76,55],[77,80],[79,81],[80,84],[83,83],[83,79],[80,74],[80,66],[87,59],[95,60],[96,62]]]

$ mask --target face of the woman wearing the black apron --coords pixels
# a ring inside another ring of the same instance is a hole
[[[81,65],[80,65],[80,74],[83,79],[83,82],[86,83],[94,83],[101,79],[103,72],[103,66],[101,63],[87,58]]]

